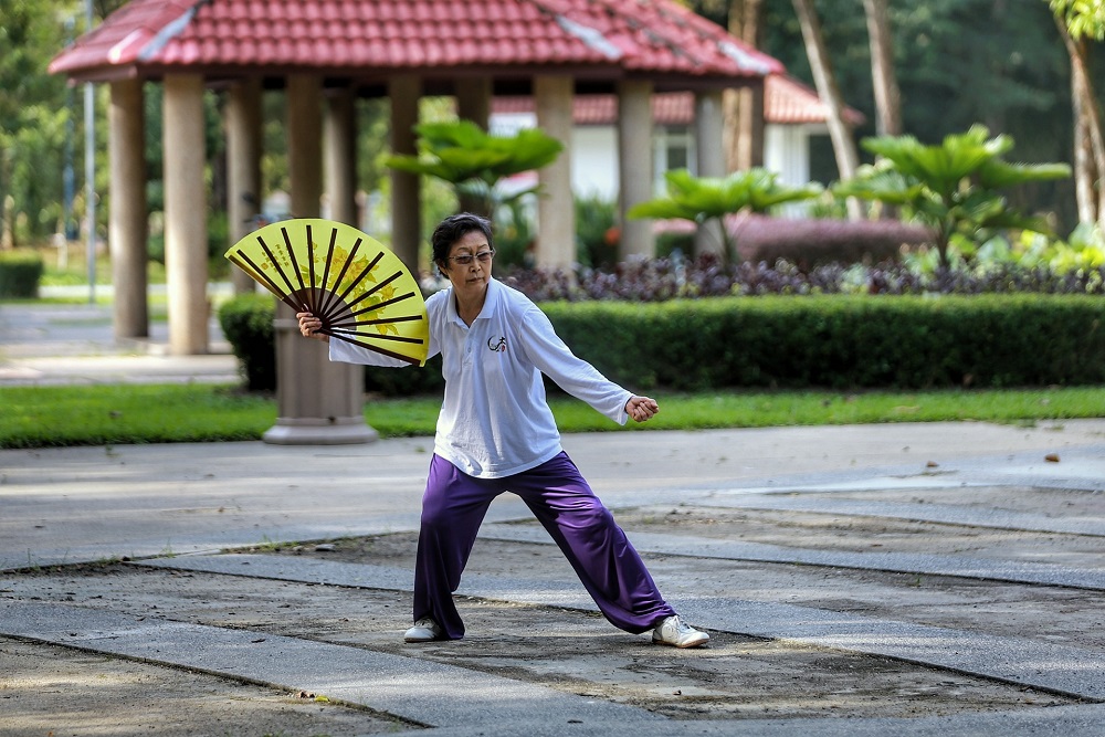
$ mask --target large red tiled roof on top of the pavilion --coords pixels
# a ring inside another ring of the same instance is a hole
[[[131,0],[50,71],[102,80],[265,67],[588,66],[733,80],[782,65],[674,0]]]

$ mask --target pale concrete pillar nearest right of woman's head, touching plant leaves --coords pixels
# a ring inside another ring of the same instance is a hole
[[[576,206],[571,192],[573,81],[570,76],[534,80],[537,126],[561,144],[557,159],[538,171],[537,265],[571,271],[576,263]]]

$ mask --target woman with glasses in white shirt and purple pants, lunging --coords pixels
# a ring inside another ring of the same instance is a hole
[[[523,498],[556,540],[602,614],[615,627],[652,630],[656,643],[694,647],[709,640],[656,589],[613,516],[560,446],[541,375],[611,420],[644,422],[660,411],[577,358],[525,295],[492,278],[491,223],[462,213],[432,238],[433,262],[450,286],[427,301],[430,356],[441,352],[445,397],[422,497],[414,571],[414,627],[407,642],[455,640],[464,623],[453,591],[492,499]],[[328,340],[320,320],[299,313],[306,337]],[[341,340],[330,360],[406,366]]]

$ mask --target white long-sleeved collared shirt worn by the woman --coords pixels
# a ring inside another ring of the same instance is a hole
[[[445,397],[434,453],[471,476],[509,476],[561,451],[545,399],[541,373],[611,420],[624,424],[631,392],[575,356],[528,297],[496,280],[469,327],[456,314],[452,288],[425,303],[430,357],[442,355]],[[407,366],[344,340],[330,340],[330,360]]]

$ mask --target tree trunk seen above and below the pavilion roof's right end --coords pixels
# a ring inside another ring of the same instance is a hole
[[[762,43],[764,0],[729,0],[729,33],[759,49]],[[764,165],[764,86],[726,90],[726,171],[741,171]]]

